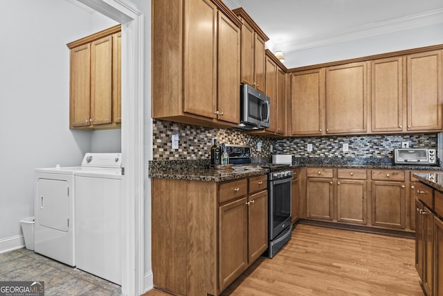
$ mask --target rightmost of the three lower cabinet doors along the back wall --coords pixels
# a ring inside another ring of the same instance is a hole
[[[406,227],[405,190],[403,182],[372,181],[372,225]]]

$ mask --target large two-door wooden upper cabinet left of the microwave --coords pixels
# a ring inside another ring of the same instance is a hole
[[[152,10],[152,117],[237,126],[241,21],[218,0],[154,0]]]

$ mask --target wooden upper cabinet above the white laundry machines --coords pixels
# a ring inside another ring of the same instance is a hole
[[[70,42],[69,128],[120,128],[121,26]]]

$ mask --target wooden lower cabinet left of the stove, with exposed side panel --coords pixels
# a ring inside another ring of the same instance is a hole
[[[239,277],[267,248],[266,178],[152,178],[154,286],[219,295]]]

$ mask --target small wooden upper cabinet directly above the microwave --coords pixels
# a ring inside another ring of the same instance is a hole
[[[264,42],[268,41],[269,37],[263,33],[243,8],[236,8],[233,12],[243,23],[241,38],[242,83],[265,92]]]

